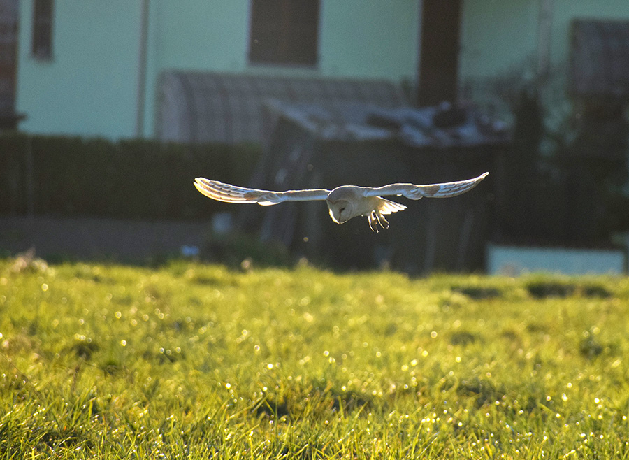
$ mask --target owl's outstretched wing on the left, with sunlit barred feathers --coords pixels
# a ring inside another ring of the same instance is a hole
[[[196,178],[194,187],[213,200],[226,203],[258,203],[262,206],[270,206],[282,201],[314,201],[324,200],[329,190],[308,189],[288,190],[287,192],[271,192],[270,190],[247,189],[236,185],[224,184],[218,180]]]

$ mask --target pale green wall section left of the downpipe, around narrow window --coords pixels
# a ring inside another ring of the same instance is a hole
[[[45,134],[133,136],[139,2],[55,1],[53,55],[31,55],[32,1],[20,1],[20,128]]]

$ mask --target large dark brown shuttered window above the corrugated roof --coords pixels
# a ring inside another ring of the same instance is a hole
[[[252,0],[249,60],[317,64],[319,0]]]

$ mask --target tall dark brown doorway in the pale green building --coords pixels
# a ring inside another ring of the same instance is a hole
[[[456,102],[461,0],[423,0],[419,106]]]

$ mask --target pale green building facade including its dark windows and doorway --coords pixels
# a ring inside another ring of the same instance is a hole
[[[194,71],[384,79],[505,115],[516,80],[555,76],[567,101],[575,20],[629,22],[629,2],[22,0],[15,112],[33,133],[152,138],[161,76]]]

